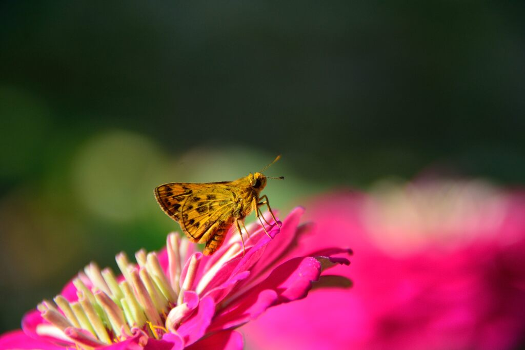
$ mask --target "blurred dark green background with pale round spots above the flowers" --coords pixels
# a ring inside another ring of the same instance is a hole
[[[266,172],[287,212],[428,172],[525,181],[525,3],[0,3],[0,331],[159,249],[165,182]]]

